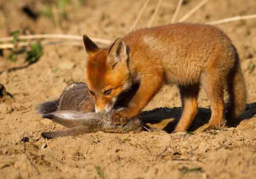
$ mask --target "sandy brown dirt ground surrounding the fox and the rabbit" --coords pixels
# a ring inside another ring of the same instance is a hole
[[[201,0],[184,0],[178,19]],[[11,31],[23,34],[87,34],[114,40],[129,31],[144,1],[70,0],[61,16],[61,27],[52,16],[36,20],[23,11],[40,12],[50,1],[0,1],[0,37]],[[163,0],[155,25],[170,23],[178,0]],[[151,0],[136,28],[145,27],[157,0]],[[210,22],[238,15],[256,14],[255,0],[209,0],[187,22]],[[0,97],[0,178],[255,178],[256,176],[256,19],[218,25],[233,40],[242,61],[248,89],[248,105],[241,121],[221,130],[197,132],[210,118],[210,103],[202,90],[199,114],[192,133],[91,133],[45,140],[41,132],[63,129],[42,119],[35,107],[57,99],[67,84],[83,81],[82,46],[45,46],[44,55],[24,66],[0,56],[0,83],[13,96]],[[164,87],[145,110],[168,107],[171,119],[153,124],[161,129],[180,117],[181,102],[176,86]]]

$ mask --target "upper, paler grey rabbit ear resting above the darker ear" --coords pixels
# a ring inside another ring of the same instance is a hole
[[[53,113],[45,114],[42,117],[69,128],[91,126],[96,121],[103,120],[98,113],[80,113],[78,111],[54,111]]]

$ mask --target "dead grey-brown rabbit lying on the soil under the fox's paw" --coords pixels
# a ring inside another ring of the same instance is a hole
[[[123,107],[118,107],[115,110],[122,109]],[[133,118],[125,125],[113,125],[110,123],[110,113],[95,113],[94,100],[88,94],[85,83],[69,84],[59,99],[39,104],[37,110],[43,118],[69,128],[43,132],[41,136],[44,138],[76,136],[98,131],[108,133],[141,132],[143,129],[140,117]]]

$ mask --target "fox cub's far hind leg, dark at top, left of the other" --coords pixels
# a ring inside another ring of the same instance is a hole
[[[199,85],[179,86],[182,102],[182,115],[174,132],[185,131],[197,114]]]

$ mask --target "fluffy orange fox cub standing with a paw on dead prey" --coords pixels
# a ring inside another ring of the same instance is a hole
[[[195,118],[201,86],[211,103],[208,128],[225,125],[225,86],[226,119],[237,119],[245,110],[246,86],[237,50],[217,27],[174,23],[132,31],[107,48],[99,48],[86,35],[83,42],[88,54],[85,82],[95,111],[110,111],[112,123],[125,124],[171,83],[178,85],[182,100],[175,132],[187,130]],[[112,110],[120,95],[137,83],[127,108]]]

